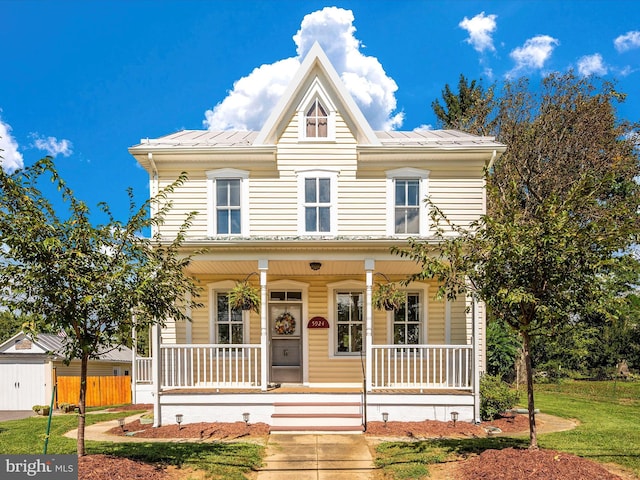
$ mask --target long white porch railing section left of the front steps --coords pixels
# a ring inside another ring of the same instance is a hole
[[[261,386],[260,345],[162,345],[161,388]]]

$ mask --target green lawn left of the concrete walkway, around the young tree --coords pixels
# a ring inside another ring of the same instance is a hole
[[[127,412],[133,414],[135,412]],[[114,420],[122,413],[87,415],[87,424]],[[77,427],[76,415],[56,415],[51,423],[47,453],[76,453],[76,440],[63,434]],[[41,454],[47,429],[46,417],[0,423],[0,452]],[[261,464],[263,447],[249,443],[109,443],[86,442],[88,454],[102,453],[134,460],[204,470],[209,478],[244,479],[244,473]]]

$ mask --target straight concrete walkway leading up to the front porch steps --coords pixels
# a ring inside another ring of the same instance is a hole
[[[272,434],[257,480],[364,480],[373,470],[364,435]]]

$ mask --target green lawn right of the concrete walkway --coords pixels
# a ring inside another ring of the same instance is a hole
[[[575,418],[571,431],[541,434],[542,448],[561,450],[600,463],[615,463],[640,478],[640,382],[567,381],[536,385],[543,413]],[[376,463],[389,478],[428,478],[428,466],[486,449],[526,447],[526,438],[483,438],[389,442],[377,448]]]

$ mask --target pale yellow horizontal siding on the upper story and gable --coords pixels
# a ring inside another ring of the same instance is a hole
[[[255,236],[297,234],[298,183],[296,171],[329,169],[338,175],[338,233],[361,235],[363,225],[368,235],[386,235],[387,200],[386,178],[380,171],[378,178],[360,178],[357,172],[356,141],[344,119],[336,116],[336,139],[327,142],[301,142],[298,139],[298,120],[294,115],[283,131],[277,145],[277,174],[250,172],[249,224]],[[191,167],[191,165],[189,165]],[[228,165],[233,168],[232,161]],[[398,167],[402,164],[399,163]],[[432,169],[429,194],[447,217],[459,225],[468,225],[484,210],[484,182],[480,172],[460,172]],[[172,210],[161,231],[174,236],[189,212],[198,212],[189,230],[189,237],[207,236],[207,179],[206,165],[189,168],[188,181],[170,195]],[[180,170],[162,169],[160,188],[169,185]],[[278,212],[274,215],[274,212]]]

